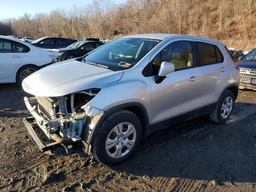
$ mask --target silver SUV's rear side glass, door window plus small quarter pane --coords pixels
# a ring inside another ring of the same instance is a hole
[[[215,64],[223,61],[223,56],[217,46],[197,42],[200,66]]]

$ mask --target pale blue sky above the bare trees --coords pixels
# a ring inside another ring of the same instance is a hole
[[[18,18],[25,12],[35,13],[50,12],[56,8],[69,8],[73,4],[84,5],[93,0],[0,0],[0,20]],[[112,0],[115,3],[124,3],[126,0]]]

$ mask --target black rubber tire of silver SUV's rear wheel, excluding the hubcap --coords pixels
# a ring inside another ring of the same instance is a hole
[[[231,109],[230,114],[226,118],[222,118],[222,116],[221,116],[221,107],[222,107],[222,104],[223,104],[224,100],[228,97],[232,98],[232,102],[233,102],[232,109]],[[214,110],[210,114],[210,119],[212,121],[216,122],[216,123],[226,122],[226,120],[228,120],[228,118],[230,117],[230,115],[231,115],[231,113],[234,109],[234,102],[235,102],[235,97],[234,97],[233,92],[230,91],[230,90],[225,90],[222,93],[222,95],[220,96],[220,99],[218,100],[218,103],[217,103],[216,107],[214,108]]]

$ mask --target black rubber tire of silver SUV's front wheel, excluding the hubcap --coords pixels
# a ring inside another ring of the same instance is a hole
[[[112,128],[122,122],[128,122],[134,125],[136,130],[136,140],[134,146],[130,152],[128,152],[128,154],[120,158],[112,158],[107,154],[105,149],[106,139]],[[141,136],[142,128],[138,117],[128,110],[119,110],[106,118],[106,120],[104,120],[104,122],[100,125],[100,128],[98,129],[96,137],[92,143],[92,154],[98,162],[107,166],[120,164],[130,157],[134,150],[136,150],[140,144]]]

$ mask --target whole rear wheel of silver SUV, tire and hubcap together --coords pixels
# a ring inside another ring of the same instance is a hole
[[[224,91],[216,107],[210,114],[210,119],[216,123],[226,122],[234,108],[234,102],[235,98],[233,92],[230,90]]]

